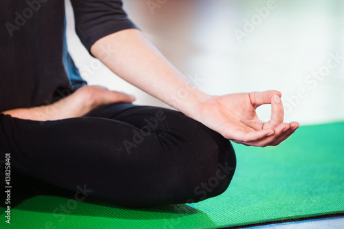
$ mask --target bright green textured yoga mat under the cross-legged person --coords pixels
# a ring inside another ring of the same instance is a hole
[[[36,196],[12,208],[10,225],[1,208],[0,228],[224,228],[343,213],[343,130],[344,122],[300,127],[280,146],[264,149],[234,144],[233,182],[199,203],[126,209]]]

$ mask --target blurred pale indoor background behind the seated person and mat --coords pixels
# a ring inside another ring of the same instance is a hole
[[[163,106],[92,58],[74,32],[69,52],[89,85]],[[124,0],[129,18],[202,91],[232,94],[277,89],[286,122],[344,120],[344,1]],[[337,57],[336,57],[337,56]],[[270,105],[259,108],[263,120]]]

